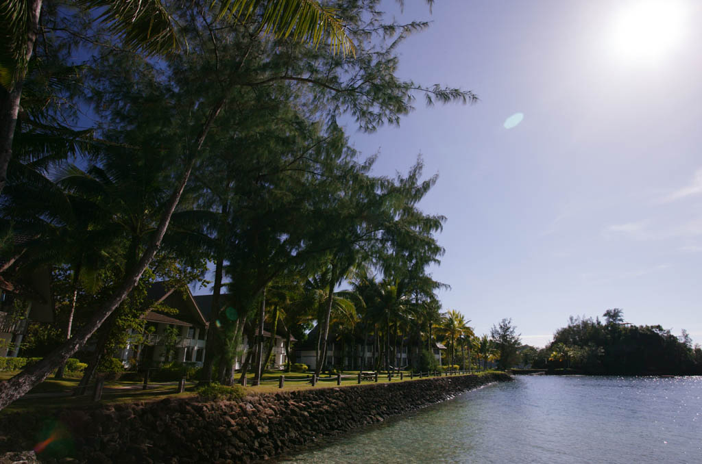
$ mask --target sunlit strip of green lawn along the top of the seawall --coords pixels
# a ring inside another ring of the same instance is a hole
[[[0,372],[0,381],[7,380],[13,375],[17,374],[18,371],[13,372]],[[484,371],[478,373],[478,375],[491,374],[496,371]],[[317,381],[317,386],[312,387],[309,383],[302,381],[306,379],[307,373],[300,372],[281,372],[281,371],[266,371],[263,374],[263,384],[257,386],[251,386],[253,383],[253,374],[247,376],[248,385],[246,388],[247,393],[277,393],[281,391],[278,388],[278,379],[281,375],[285,376],[285,388],[283,390],[307,390],[309,388],[331,388],[336,387],[336,376],[322,376],[322,380]],[[342,376],[352,375],[354,378],[342,378],[341,386],[358,385],[356,376],[358,371],[343,371]],[[414,376],[413,379],[409,378],[409,371],[404,371],[404,381],[419,380],[419,376]],[[238,378],[238,376],[237,376]],[[324,380],[329,378],[329,380]],[[426,378],[426,377],[423,377]],[[298,380],[298,381],[295,381]],[[74,388],[78,386],[80,378],[64,378],[62,380],[56,380],[54,378],[48,378],[43,383],[37,385],[30,393],[72,393]],[[399,382],[399,376],[393,375],[392,383]],[[361,385],[369,385],[375,383],[374,381],[363,381]],[[388,383],[388,375],[382,374],[378,375],[378,383]],[[195,391],[195,383],[187,383],[185,388],[185,393],[176,393],[178,385],[173,383],[156,383],[150,382],[149,388],[147,390],[142,390],[141,388],[124,388],[135,385],[141,385],[141,382],[106,382],[105,390],[102,392],[101,404],[116,404],[116,403],[129,403],[129,402],[141,402],[141,401],[158,401],[164,400],[165,398],[188,398],[196,397],[197,392]],[[88,388],[88,395],[81,397],[73,396],[61,396],[61,397],[34,397],[34,398],[22,398],[17,400],[9,407],[6,407],[0,414],[9,414],[19,411],[42,411],[46,412],[51,409],[62,409],[62,408],[82,408],[82,407],[93,407],[100,403],[93,402],[92,399],[92,387]]]

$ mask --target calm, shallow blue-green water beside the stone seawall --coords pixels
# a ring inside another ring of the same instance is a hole
[[[519,376],[282,463],[702,463],[702,377]]]

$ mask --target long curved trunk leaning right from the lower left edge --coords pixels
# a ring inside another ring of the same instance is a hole
[[[0,411],[7,407],[8,404],[22,397],[22,395],[25,395],[29,390],[32,390],[36,385],[39,385],[39,383],[44,381],[44,379],[51,374],[53,369],[65,363],[71,355],[85,346],[91,335],[95,333],[98,327],[110,317],[114,310],[117,309],[117,306],[119,306],[134,287],[136,287],[142,274],[154,259],[156,252],[161,246],[161,240],[163,240],[166,234],[166,229],[168,228],[168,223],[171,221],[171,216],[173,216],[173,211],[176,210],[178,201],[180,201],[180,196],[183,194],[183,190],[185,190],[185,185],[190,178],[193,165],[194,159],[187,164],[178,188],[171,194],[171,199],[168,201],[166,210],[161,215],[159,225],[152,237],[151,243],[138,261],[137,266],[128,272],[126,278],[124,278],[114,294],[107,299],[98,311],[95,311],[93,317],[88,320],[86,325],[81,327],[71,339],[53,350],[52,353],[44,357],[43,360],[37,362],[37,364],[25,369],[8,381],[0,383]]]

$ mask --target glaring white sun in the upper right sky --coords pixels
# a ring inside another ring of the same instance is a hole
[[[679,1],[633,1],[614,15],[608,48],[620,60],[658,62],[682,43],[684,22]]]

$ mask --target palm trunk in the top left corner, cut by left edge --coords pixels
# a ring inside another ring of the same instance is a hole
[[[5,6],[4,8],[9,7]],[[0,86],[0,195],[7,183],[7,168],[12,158],[12,141],[17,126],[17,115],[20,111],[22,83],[27,75],[29,59],[34,52],[34,41],[37,40],[37,32],[39,31],[41,0],[28,0],[26,8],[27,13],[29,13],[29,21],[27,21],[27,51],[23,57],[23,62],[15,63],[20,64],[21,67],[15,76],[14,86],[10,89]]]

